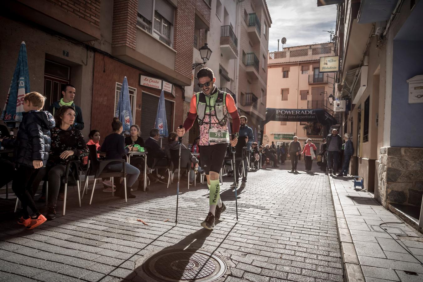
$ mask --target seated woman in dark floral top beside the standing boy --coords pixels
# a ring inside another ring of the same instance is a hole
[[[51,130],[52,142],[47,166],[50,167],[49,197],[47,219],[56,218],[56,203],[60,189],[61,178],[65,175],[66,164],[74,159],[88,156],[81,131],[72,127],[75,123],[75,110],[70,106],[62,106],[55,114],[56,127]]]

